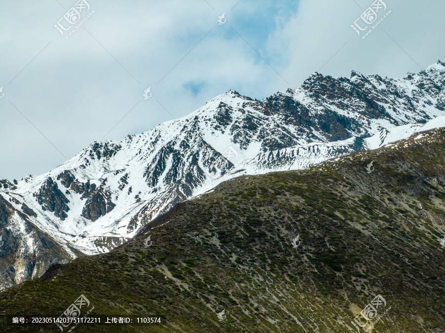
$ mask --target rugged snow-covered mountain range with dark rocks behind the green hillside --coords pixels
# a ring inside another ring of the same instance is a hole
[[[231,177],[309,167],[445,126],[444,91],[440,61],[403,79],[315,73],[262,101],[230,90],[187,117],[94,142],[40,176],[2,180],[0,289],[111,250]]]

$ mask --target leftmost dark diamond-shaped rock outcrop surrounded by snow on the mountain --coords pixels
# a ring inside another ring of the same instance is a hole
[[[68,217],[67,211],[70,210],[67,197],[59,190],[57,183],[51,177],[48,177],[37,194],[36,197],[39,205],[42,205],[43,210],[54,212],[54,215],[62,221]]]

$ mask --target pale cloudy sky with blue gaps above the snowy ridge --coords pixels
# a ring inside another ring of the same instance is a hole
[[[314,72],[402,78],[445,61],[445,1],[407,2],[0,0],[0,179],[229,89],[264,99]]]

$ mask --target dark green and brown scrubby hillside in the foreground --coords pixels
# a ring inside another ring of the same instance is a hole
[[[380,294],[379,314],[389,311],[373,333],[445,332],[444,151],[436,129],[306,170],[234,178],[109,253],[3,291],[0,314],[58,317],[84,294],[90,316],[164,323],[76,332],[337,333],[356,331],[356,314]]]

